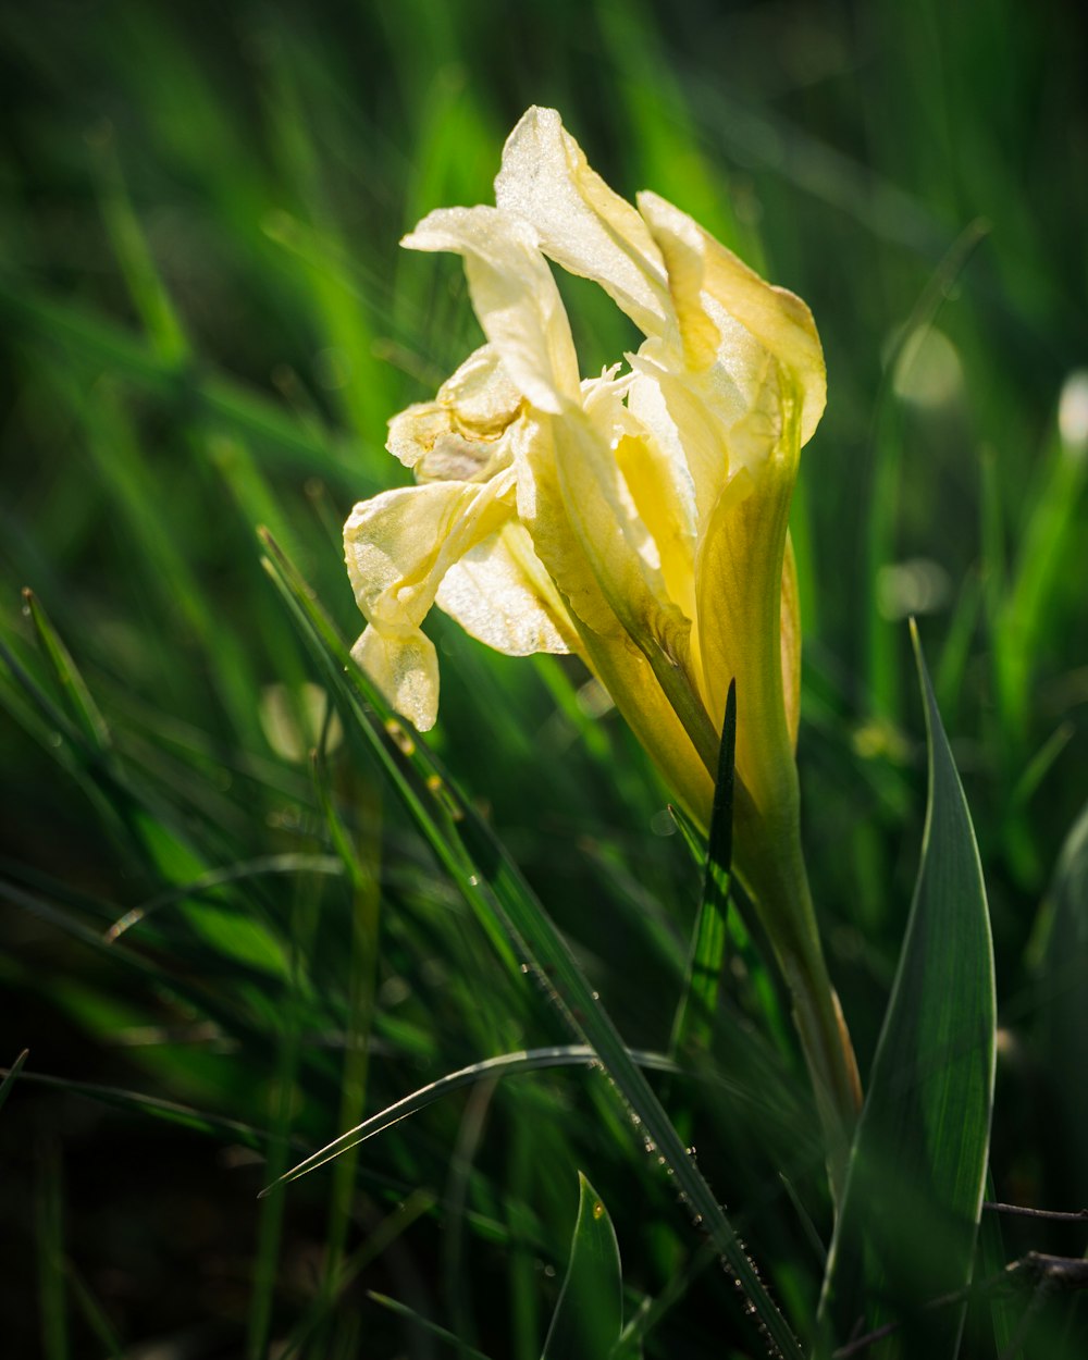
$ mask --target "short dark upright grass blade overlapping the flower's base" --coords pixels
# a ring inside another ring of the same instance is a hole
[[[737,685],[730,681],[725,700],[718,779],[710,815],[703,896],[691,941],[684,991],[676,1009],[669,1051],[687,1055],[707,1053],[718,1009],[718,989],[725,963],[729,879],[733,862],[733,759],[737,737]]]

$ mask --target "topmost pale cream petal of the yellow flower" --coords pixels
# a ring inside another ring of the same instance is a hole
[[[510,133],[495,201],[532,222],[544,254],[598,283],[643,335],[665,332],[672,309],[661,252],[635,208],[590,169],[555,109],[529,109]]]

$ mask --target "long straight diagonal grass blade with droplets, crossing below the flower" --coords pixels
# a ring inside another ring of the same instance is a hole
[[[265,566],[303,641],[322,666],[330,692],[355,718],[393,787],[439,862],[450,872],[499,957],[514,974],[536,978],[574,1035],[596,1053],[611,1089],[635,1126],[645,1151],[662,1170],[672,1168],[681,1204],[714,1243],[726,1272],[753,1311],[753,1325],[772,1355],[801,1356],[793,1331],[767,1292],[732,1223],[688,1156],[684,1140],[590,986],[574,953],[513,860],[472,802],[439,767],[427,745],[388,717],[388,710],[356,666],[311,589],[277,549]],[[379,718],[378,715],[382,715]]]

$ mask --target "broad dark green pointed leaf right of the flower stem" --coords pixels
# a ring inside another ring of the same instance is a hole
[[[906,1355],[955,1356],[990,1141],[994,971],[971,817],[918,661],[929,734],[922,862],[820,1300],[821,1345],[902,1323]]]

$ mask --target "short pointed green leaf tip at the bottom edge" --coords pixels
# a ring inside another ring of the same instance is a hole
[[[623,1272],[616,1229],[578,1172],[578,1219],[559,1302],[540,1360],[602,1360],[623,1331]]]

